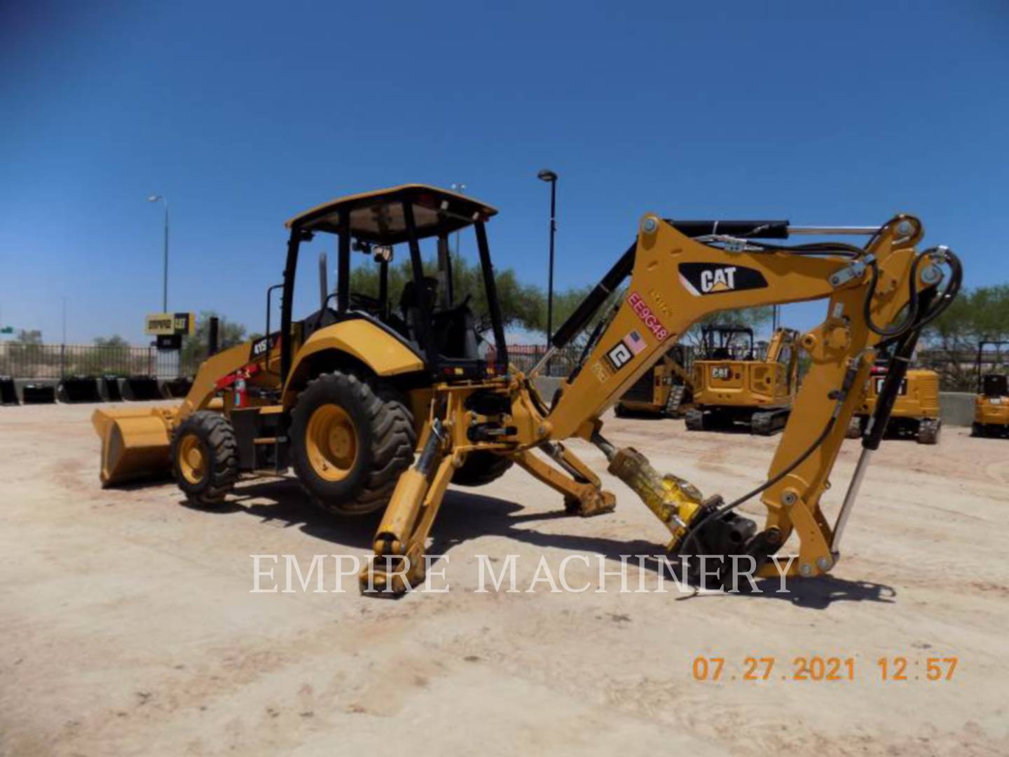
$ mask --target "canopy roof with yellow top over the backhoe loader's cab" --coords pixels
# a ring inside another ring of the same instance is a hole
[[[338,234],[343,214],[347,214],[353,238],[375,244],[397,244],[409,238],[404,203],[414,209],[418,239],[448,235],[497,213],[471,197],[425,184],[405,184],[331,200],[295,216],[286,225],[304,231]]]

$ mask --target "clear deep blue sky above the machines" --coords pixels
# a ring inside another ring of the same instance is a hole
[[[465,183],[501,211],[497,264],[545,284],[544,167],[561,177],[562,288],[594,282],[645,211],[908,211],[968,285],[1005,282],[1007,38],[997,0],[8,0],[0,321],[58,341],[66,297],[69,341],[143,343],[161,292],[151,193],[172,204],[170,309],[250,329],[285,219],[404,182]],[[795,307],[794,325],[816,322]]]

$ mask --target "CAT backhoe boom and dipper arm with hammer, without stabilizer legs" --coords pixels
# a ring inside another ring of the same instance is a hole
[[[830,470],[860,400],[859,392],[851,390],[865,383],[884,338],[907,338],[913,333],[916,339],[920,326],[908,326],[899,334],[899,329],[885,327],[895,320],[911,324],[925,315],[919,305],[926,298],[918,293],[934,294],[942,272],[932,264],[931,256],[935,263],[945,261],[945,252],[917,253],[914,245],[922,236],[921,223],[904,215],[880,227],[864,250],[824,243],[812,251],[813,245],[788,248],[734,239],[727,240],[728,246],[743,249],[731,251],[691,239],[651,214],[643,217],[639,228],[631,284],[623,302],[580,369],[562,386],[544,431],[554,440],[578,436],[599,446],[610,460],[610,471],[666,523],[673,534],[671,549],[728,553],[727,546],[735,544],[735,553],[750,553],[763,562],[795,530],[800,549],[798,560],[790,563],[791,572],[815,575],[828,570],[837,558],[836,544],[819,498],[829,485]],[[799,342],[812,366],[771,463],[768,482],[750,494],[763,494],[767,507],[761,533],[741,529],[735,516],[727,515],[749,496],[730,506],[721,506],[720,498],[702,500],[686,481],[658,476],[640,453],[615,450],[599,435],[599,415],[703,316],[816,299],[828,301],[826,319]],[[898,314],[905,306],[909,307],[902,321]],[[760,569],[774,574],[773,568]]]

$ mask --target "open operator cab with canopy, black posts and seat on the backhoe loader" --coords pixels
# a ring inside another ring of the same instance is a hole
[[[290,332],[290,310],[298,247],[315,234],[337,236],[336,291],[326,294],[319,311],[301,322],[302,339],[349,319],[379,325],[410,347],[425,367],[443,380],[483,379],[504,372],[508,351],[484,224],[497,213],[478,200],[426,185],[404,185],[351,195],[316,206],[287,222],[291,229],[285,271],[282,333]],[[449,237],[472,227],[476,237],[486,313],[482,321],[470,307],[472,292],[457,301]],[[421,242],[436,246],[437,271],[426,271]],[[378,266],[377,291],[351,288],[351,256],[360,254]],[[410,260],[409,278],[399,292],[389,271],[398,255]],[[289,281],[290,280],[290,281]],[[325,285],[323,286],[325,290]],[[479,342],[492,332],[495,362],[488,365]],[[282,344],[282,372],[290,352]]]

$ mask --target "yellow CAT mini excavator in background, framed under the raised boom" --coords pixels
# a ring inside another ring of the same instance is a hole
[[[714,324],[701,329],[701,356],[693,363],[693,407],[688,431],[742,424],[769,436],[785,427],[798,390],[798,332],[774,332],[763,358],[753,329]]]

